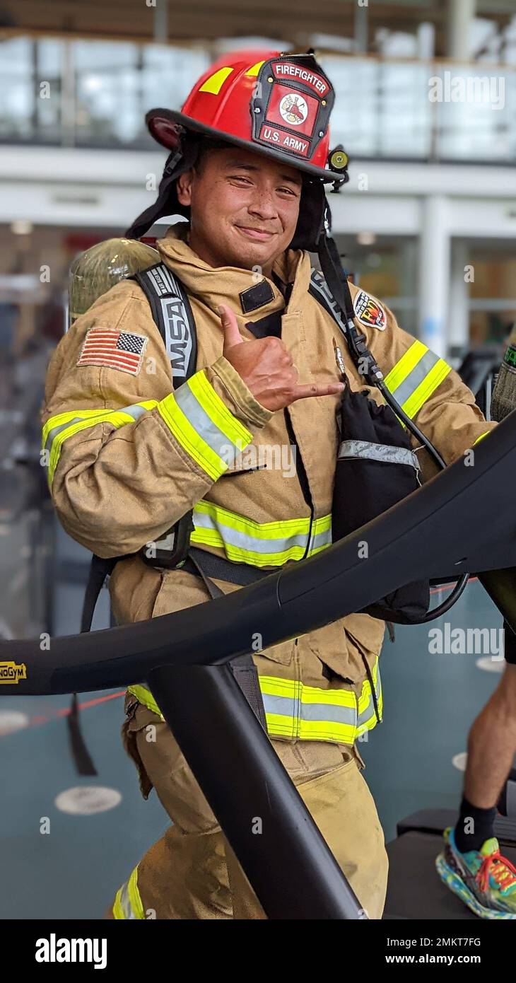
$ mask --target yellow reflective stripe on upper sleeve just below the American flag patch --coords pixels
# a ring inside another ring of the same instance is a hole
[[[107,423],[118,430],[126,424],[134,424],[145,411],[157,406],[157,400],[148,399],[121,410],[68,410],[50,417],[43,427],[42,445],[48,453],[48,483],[51,486],[55,470],[61,456],[61,448],[70,436],[96,427],[97,424]]]

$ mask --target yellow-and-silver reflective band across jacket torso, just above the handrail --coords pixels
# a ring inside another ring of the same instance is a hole
[[[192,543],[224,549],[228,559],[253,566],[281,566],[302,559],[311,531],[310,517],[255,522],[229,509],[201,500],[194,507]],[[315,519],[308,555],[331,544],[331,515]]]

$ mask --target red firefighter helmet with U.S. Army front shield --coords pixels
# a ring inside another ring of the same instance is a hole
[[[347,155],[329,148],[334,89],[313,54],[232,52],[201,76],[181,111],[151,109],[152,137],[176,148],[188,131],[244,146],[318,177],[344,179]]]

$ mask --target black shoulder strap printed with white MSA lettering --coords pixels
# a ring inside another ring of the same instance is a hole
[[[196,321],[188,294],[181,280],[165,266],[153,266],[135,273],[136,280],[150,305],[152,318],[159,328],[172,367],[174,388],[193,376],[197,364]]]

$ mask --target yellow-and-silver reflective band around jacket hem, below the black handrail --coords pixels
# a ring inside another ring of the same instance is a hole
[[[381,685],[377,660],[373,683],[381,717]],[[267,730],[270,736],[326,740],[353,744],[377,723],[368,679],[357,697],[352,690],[318,689],[299,680],[259,676]]]

